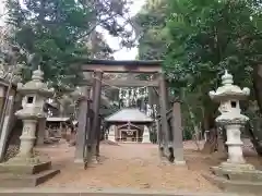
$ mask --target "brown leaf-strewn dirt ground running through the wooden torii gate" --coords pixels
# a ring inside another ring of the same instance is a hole
[[[157,154],[157,145],[153,144],[102,144],[100,162],[87,170],[73,163],[74,147],[69,147],[66,142],[39,150],[47,154],[53,166],[61,170],[60,174],[40,185],[41,187],[219,192],[201,174],[207,172],[211,166],[218,164],[222,161],[221,156],[195,151],[195,145],[190,142],[184,143],[187,167],[163,163]],[[262,163],[258,158],[249,159],[257,166]]]

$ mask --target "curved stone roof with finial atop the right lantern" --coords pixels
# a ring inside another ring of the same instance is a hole
[[[227,70],[222,76],[222,84],[223,86],[218,87],[216,91],[210,91],[211,99],[218,102],[224,99],[242,100],[246,99],[250,94],[249,88],[245,87],[243,89],[241,89],[239,86],[234,85],[233,75],[229,74]]]

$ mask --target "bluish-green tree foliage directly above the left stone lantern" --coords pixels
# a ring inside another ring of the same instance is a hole
[[[91,11],[74,0],[24,1],[24,4],[9,0],[8,9],[8,23],[14,26],[12,41],[26,51],[29,70],[40,63],[46,79],[55,84],[76,82],[78,68],[70,64],[87,52],[81,38],[91,30]]]

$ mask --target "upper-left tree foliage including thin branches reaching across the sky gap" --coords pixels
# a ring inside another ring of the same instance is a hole
[[[23,3],[8,0],[8,23],[14,30],[11,41],[23,50],[24,63],[29,62],[25,76],[40,64],[45,79],[53,86],[75,85],[82,75],[73,63],[90,57],[88,44],[96,41],[93,39],[103,42],[92,47],[98,57],[110,57],[112,52],[96,33],[93,36],[97,25],[128,41],[127,30],[117,21],[124,17],[127,3],[126,0],[24,0]]]

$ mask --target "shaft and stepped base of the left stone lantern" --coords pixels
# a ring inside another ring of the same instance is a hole
[[[20,136],[20,152],[0,163],[0,187],[34,187],[44,183],[60,171],[51,169],[48,157],[34,150],[37,118],[26,111],[16,112],[23,120],[23,131]]]

